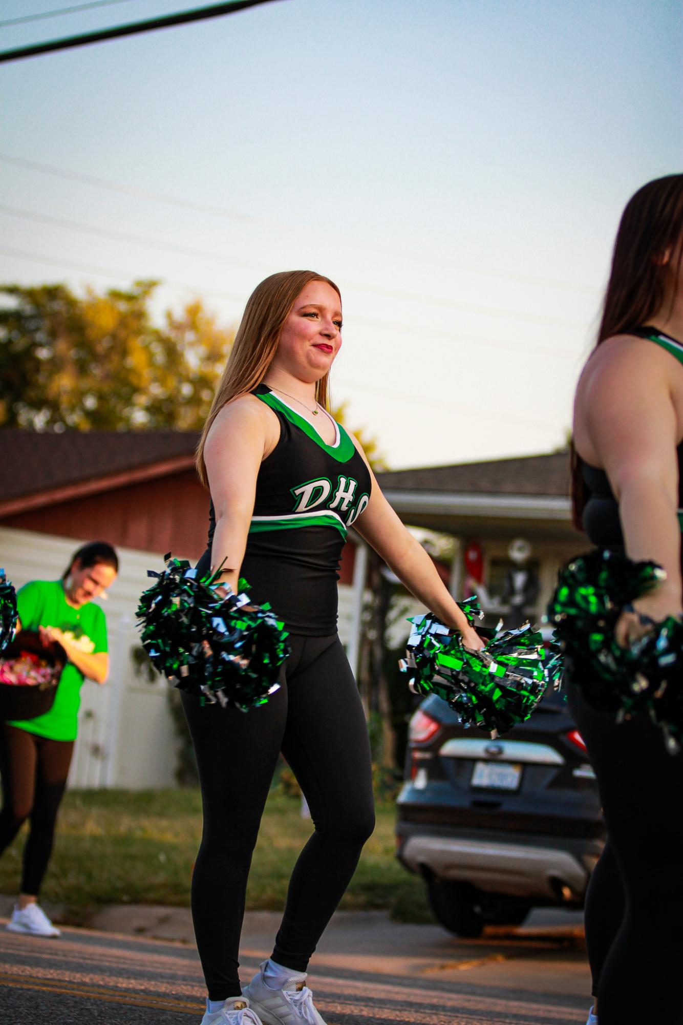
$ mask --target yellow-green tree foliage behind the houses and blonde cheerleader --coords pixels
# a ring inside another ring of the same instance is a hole
[[[234,332],[200,299],[155,323],[157,286],[0,285],[0,427],[201,430]],[[345,422],[345,404],[334,413]],[[376,440],[356,434],[382,468]]]

